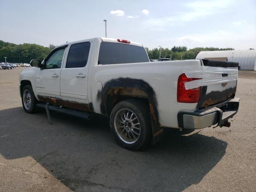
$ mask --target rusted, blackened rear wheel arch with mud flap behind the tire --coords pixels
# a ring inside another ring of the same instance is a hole
[[[113,107],[122,100],[136,98],[147,102],[150,112],[153,143],[160,140],[163,132],[159,123],[157,95],[152,86],[142,79],[116,78],[106,82],[102,91],[97,95],[101,100],[100,110],[102,114],[110,115]]]

